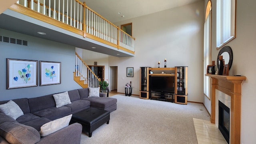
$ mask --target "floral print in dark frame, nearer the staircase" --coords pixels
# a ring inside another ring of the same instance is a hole
[[[40,86],[61,83],[61,62],[40,61]]]

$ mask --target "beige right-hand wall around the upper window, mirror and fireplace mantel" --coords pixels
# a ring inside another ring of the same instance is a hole
[[[205,0],[206,2],[207,0]],[[256,143],[256,96],[254,88],[256,86],[256,1],[237,0],[236,1],[236,38],[226,44],[233,51],[233,64],[230,69],[231,75],[246,76],[242,83],[242,112],[241,112],[241,144]],[[204,8],[205,9],[205,8]],[[216,50],[216,1],[212,0],[212,60],[217,60]],[[209,100],[204,97],[204,101],[209,104]],[[204,103],[204,104],[206,104]]]

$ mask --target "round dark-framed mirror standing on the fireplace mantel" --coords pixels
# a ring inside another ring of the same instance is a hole
[[[218,58],[217,58],[217,66],[219,67],[219,56],[223,56],[223,60],[225,61],[225,64],[228,64],[228,69],[230,70],[231,66],[232,66],[232,62],[233,62],[233,52],[232,49],[230,48],[230,46],[224,46],[219,54],[218,54]]]

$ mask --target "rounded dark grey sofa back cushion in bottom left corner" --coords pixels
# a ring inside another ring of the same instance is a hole
[[[36,129],[12,121],[0,124],[0,136],[11,144],[35,144],[40,141],[40,134]]]

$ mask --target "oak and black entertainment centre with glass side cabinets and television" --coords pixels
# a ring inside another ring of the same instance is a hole
[[[188,66],[140,67],[140,98],[187,104]]]

